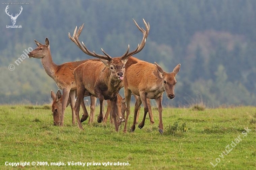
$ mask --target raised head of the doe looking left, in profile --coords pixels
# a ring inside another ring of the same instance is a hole
[[[27,54],[28,57],[36,58],[36,59],[44,58],[44,56],[46,56],[50,50],[49,39],[48,38],[45,39],[45,45],[41,44],[40,42],[36,41],[35,39],[34,39],[34,42],[37,45],[37,47],[32,52],[28,52],[28,54]]]

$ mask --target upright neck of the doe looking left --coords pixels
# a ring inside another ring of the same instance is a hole
[[[57,70],[58,65],[56,65],[53,62],[50,50],[48,51],[47,55],[45,55],[41,59],[41,62],[45,69],[45,72],[48,74],[48,76],[50,76],[51,78],[53,78],[55,80],[55,72]]]

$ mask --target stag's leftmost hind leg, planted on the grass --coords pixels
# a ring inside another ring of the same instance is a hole
[[[77,86],[77,98],[76,98],[76,102],[75,102],[75,105],[74,105],[76,121],[77,121],[78,127],[81,130],[83,130],[83,127],[82,127],[82,124],[81,124],[81,121],[80,121],[79,111],[80,111],[81,102],[83,101],[83,98],[84,98],[85,90],[86,89],[84,88],[83,85],[78,85]]]

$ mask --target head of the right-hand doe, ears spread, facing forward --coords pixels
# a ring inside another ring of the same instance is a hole
[[[158,65],[155,62],[155,65],[157,67],[157,70],[161,73],[162,75],[162,86],[164,91],[167,94],[167,97],[170,99],[175,98],[175,94],[174,94],[174,87],[176,85],[176,79],[175,76],[177,75],[177,73],[180,71],[180,67],[181,64],[178,64],[175,66],[175,68],[173,69],[173,72],[165,72],[160,65]]]

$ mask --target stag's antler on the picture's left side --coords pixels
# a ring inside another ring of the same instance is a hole
[[[94,51],[93,51],[93,52],[90,52],[90,51],[87,49],[87,47],[84,45],[83,42],[82,42],[82,45],[81,45],[81,43],[80,43],[80,41],[79,41],[78,38],[79,38],[79,36],[80,36],[80,34],[81,34],[81,32],[82,32],[83,27],[84,27],[84,24],[79,27],[78,31],[76,31],[76,30],[77,30],[77,26],[76,26],[75,29],[74,29],[73,37],[71,37],[71,36],[70,36],[70,33],[68,33],[69,39],[71,39],[71,40],[74,42],[74,44],[75,44],[76,46],[78,46],[78,47],[82,50],[82,52],[86,53],[87,55],[92,56],[92,57],[96,57],[96,58],[99,58],[99,59],[106,59],[106,60],[108,60],[108,61],[111,61],[112,58],[111,58],[106,52],[104,52],[104,50],[103,50],[102,48],[101,48],[101,51],[102,51],[105,55],[96,54]]]

